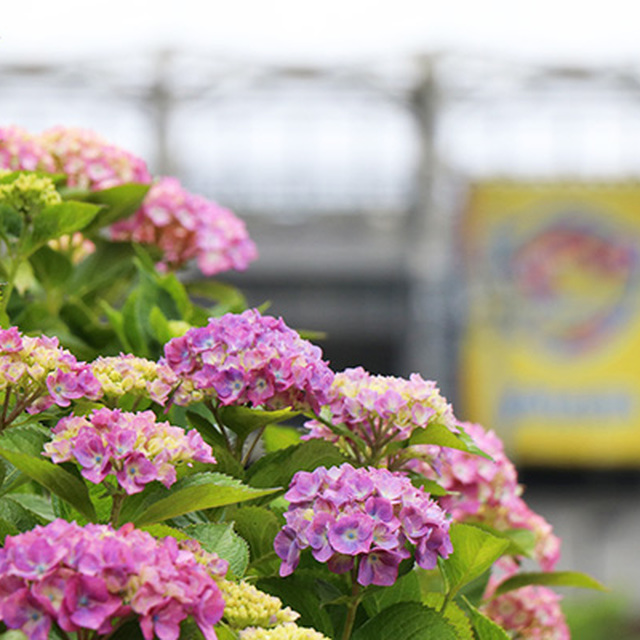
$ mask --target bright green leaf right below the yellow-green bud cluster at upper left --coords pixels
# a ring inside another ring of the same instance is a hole
[[[33,220],[33,229],[23,247],[25,256],[49,240],[81,231],[97,215],[100,207],[85,202],[61,202],[43,209]]]

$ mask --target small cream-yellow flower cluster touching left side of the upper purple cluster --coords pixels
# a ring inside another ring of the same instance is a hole
[[[130,394],[163,405],[179,382],[178,376],[166,364],[132,354],[99,357],[91,363],[91,371],[107,402],[117,402]]]

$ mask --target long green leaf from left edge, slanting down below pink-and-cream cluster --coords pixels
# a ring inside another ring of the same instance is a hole
[[[59,465],[28,453],[20,453],[11,451],[6,447],[0,447],[0,456],[45,489],[66,500],[87,520],[95,521],[95,509],[91,504],[87,485],[83,480],[72,475]]]

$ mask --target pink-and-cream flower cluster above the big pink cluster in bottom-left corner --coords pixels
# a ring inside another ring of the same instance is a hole
[[[215,463],[211,447],[197,431],[156,422],[152,411],[98,409],[89,416],[63,418],[52,432],[44,455],[55,463],[77,462],[82,475],[95,484],[115,475],[128,494],[154,480],[170,487],[178,464]]]

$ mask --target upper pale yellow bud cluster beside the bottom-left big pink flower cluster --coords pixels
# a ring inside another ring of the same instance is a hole
[[[273,627],[293,622],[300,617],[282,601],[256,589],[248,582],[219,580],[218,586],[224,598],[224,620],[234,629],[245,627]]]

